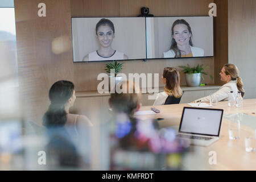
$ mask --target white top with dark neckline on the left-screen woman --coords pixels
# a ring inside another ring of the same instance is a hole
[[[89,53],[89,61],[123,60],[123,52],[115,51],[109,57],[100,56],[97,51]]]

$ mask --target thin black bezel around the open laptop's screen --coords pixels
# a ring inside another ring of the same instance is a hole
[[[185,109],[199,109],[199,110],[217,110],[217,111],[221,111],[221,121],[220,121],[220,126],[218,127],[218,134],[217,135],[210,135],[210,134],[190,133],[190,132],[180,131]],[[209,108],[202,108],[202,107],[183,107],[182,116],[181,116],[181,119],[180,119],[179,133],[219,137],[220,136],[220,130],[221,130],[221,123],[222,123],[223,112],[224,112],[223,109],[209,109]]]

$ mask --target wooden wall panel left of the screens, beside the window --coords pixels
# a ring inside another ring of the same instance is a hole
[[[40,2],[14,1],[22,109],[38,123],[53,82],[73,81],[70,1],[44,1],[46,17],[38,16]]]

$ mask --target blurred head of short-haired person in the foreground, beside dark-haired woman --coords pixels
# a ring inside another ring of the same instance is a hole
[[[115,113],[125,113],[133,117],[135,111],[141,107],[141,91],[131,81],[122,81],[120,88],[126,90],[126,93],[112,93],[109,105]]]

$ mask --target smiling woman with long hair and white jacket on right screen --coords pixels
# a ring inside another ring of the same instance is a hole
[[[184,19],[177,19],[172,24],[171,49],[164,52],[167,57],[201,57],[204,56],[204,49],[193,47],[191,36],[192,31],[188,22]]]

